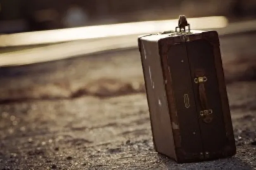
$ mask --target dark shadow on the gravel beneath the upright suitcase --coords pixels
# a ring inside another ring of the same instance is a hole
[[[214,161],[203,161],[195,163],[176,163],[168,157],[158,154],[159,160],[166,165],[168,170],[218,170],[218,169],[235,169],[235,170],[253,170],[251,165],[237,157],[223,158]]]

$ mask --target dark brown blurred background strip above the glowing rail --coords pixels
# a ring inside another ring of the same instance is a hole
[[[0,33],[224,15],[256,17],[256,0],[1,0]]]

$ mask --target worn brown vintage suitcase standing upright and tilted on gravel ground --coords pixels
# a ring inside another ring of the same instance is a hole
[[[188,27],[188,29],[186,29]],[[216,31],[138,37],[154,148],[178,163],[235,155],[235,138]]]

